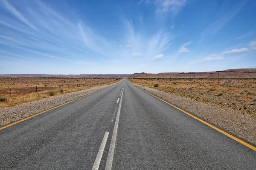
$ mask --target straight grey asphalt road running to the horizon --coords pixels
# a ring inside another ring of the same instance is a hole
[[[0,130],[6,169],[255,170],[256,152],[124,79]]]

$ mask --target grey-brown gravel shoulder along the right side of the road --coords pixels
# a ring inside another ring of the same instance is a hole
[[[201,102],[197,102],[182,96],[168,94],[154,88],[131,83],[151,94],[154,94],[173,105],[198,116],[207,122],[214,124],[242,139],[256,144],[256,117],[247,114],[228,111]]]

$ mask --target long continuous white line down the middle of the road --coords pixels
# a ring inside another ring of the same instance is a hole
[[[124,93],[122,93],[122,96],[123,96],[123,94]],[[114,126],[114,129],[113,129],[113,135],[112,135],[112,138],[111,138],[111,143],[110,143],[110,147],[109,147],[109,151],[108,151],[108,159],[107,159],[105,170],[111,170],[112,164],[113,164],[113,156],[114,156],[114,150],[115,150],[115,144],[116,144],[117,127],[118,127],[121,104],[122,104],[122,96],[121,96],[118,111],[117,111],[117,114],[116,114],[116,122],[115,122],[115,126]]]

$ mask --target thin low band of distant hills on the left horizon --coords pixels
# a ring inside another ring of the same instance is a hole
[[[131,74],[0,74],[0,77],[124,78]]]

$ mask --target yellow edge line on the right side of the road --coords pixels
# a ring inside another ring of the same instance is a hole
[[[136,86],[135,86],[135,87],[136,87]],[[141,88],[140,88],[140,90],[145,91],[145,90],[143,90],[143,89],[141,89]],[[148,93],[147,91],[145,91],[145,92]],[[148,93],[148,94],[150,94],[150,93]],[[153,94],[150,94],[150,95],[151,95],[151,96],[154,96]],[[157,99],[160,99],[160,98],[157,97],[157,96],[154,96],[154,97],[156,97]],[[202,119],[199,119],[198,117],[196,117],[196,116],[194,116],[194,115],[192,115],[192,114],[190,114],[190,113],[188,113],[188,112],[186,112],[186,111],[183,111],[182,109],[178,108],[178,107],[175,106],[175,105],[172,105],[172,104],[169,103],[169,102],[164,101],[163,99],[160,99],[160,100],[163,101],[163,102],[165,102],[165,103],[167,103],[168,105],[171,105],[172,107],[174,107],[174,108],[176,108],[176,109],[182,111],[183,113],[186,113],[187,115],[189,115],[189,116],[191,116],[191,117],[193,117],[193,118],[199,120],[200,122],[204,123],[205,125],[207,125],[207,126],[209,126],[209,127],[212,127],[213,129],[215,129],[215,130],[219,131],[220,133],[222,133],[222,134],[224,134],[224,135],[230,137],[231,139],[234,139],[235,141],[237,141],[237,142],[243,144],[244,146],[247,146],[247,147],[249,147],[250,149],[256,151],[256,147],[254,147],[254,146],[252,146],[252,145],[250,145],[250,144],[248,144],[248,143],[242,141],[241,139],[238,139],[238,138],[236,138],[235,136],[230,135],[230,134],[227,133],[227,132],[224,132],[223,130],[219,129],[218,127],[215,127],[215,126],[213,126],[213,125],[211,125],[211,124],[209,124],[209,123],[203,121]]]

